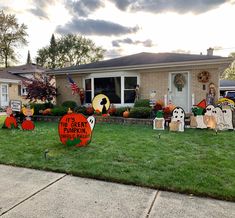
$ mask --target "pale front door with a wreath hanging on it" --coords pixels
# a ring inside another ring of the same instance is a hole
[[[169,99],[175,106],[189,112],[189,73],[170,73]]]

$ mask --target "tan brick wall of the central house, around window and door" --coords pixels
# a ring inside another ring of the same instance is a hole
[[[136,74],[140,77],[140,98],[149,99],[151,91],[156,91],[156,99],[164,99],[164,95],[168,94],[169,88],[169,75],[175,72],[188,72],[189,73],[189,98],[190,102],[192,94],[194,94],[195,104],[206,98],[208,93],[208,87],[210,83],[214,83],[216,87],[216,99],[219,97],[219,76],[221,72],[220,65],[195,65],[195,66],[182,66],[175,68],[162,68],[151,70],[135,70]],[[208,71],[210,73],[210,79],[207,83],[201,83],[197,79],[198,73],[201,71]],[[113,72],[115,75],[115,72]],[[79,74],[72,75],[73,80],[80,88],[83,87],[83,76]],[[203,84],[205,84],[205,90],[203,90]],[[61,105],[64,101],[72,100],[80,105],[79,96],[77,94],[72,95],[70,85],[66,79],[66,75],[56,76],[56,86],[59,96],[57,97],[57,104]],[[189,105],[190,106],[190,105]]]

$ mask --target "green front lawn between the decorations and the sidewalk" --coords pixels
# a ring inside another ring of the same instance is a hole
[[[57,123],[38,122],[34,131],[0,129],[0,163],[235,200],[233,131],[98,123],[77,148],[60,143]]]

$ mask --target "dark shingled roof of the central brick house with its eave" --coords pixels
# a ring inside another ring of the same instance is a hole
[[[231,59],[231,58],[230,58]],[[79,66],[66,67],[61,69],[54,69],[48,71],[56,75],[71,73],[71,72],[91,72],[96,70],[108,69],[134,69],[145,68],[147,66],[170,66],[171,64],[186,64],[196,62],[216,62],[218,60],[228,60],[221,56],[210,55],[194,55],[194,54],[181,54],[181,53],[138,53],[124,57],[114,58],[110,60],[98,61],[90,64]],[[230,61],[231,62],[231,61]]]

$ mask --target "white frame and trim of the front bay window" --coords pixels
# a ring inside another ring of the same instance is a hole
[[[124,86],[125,86],[125,77],[137,77],[137,84],[140,85],[140,75],[136,72],[113,72],[113,73],[94,73],[90,74],[83,78],[83,87],[85,89],[85,80],[91,79],[91,99],[93,99],[94,96],[94,79],[95,78],[106,78],[106,77],[121,77],[121,103],[120,104],[114,104],[116,107],[122,107],[122,106],[133,106],[134,103],[124,103]],[[127,89],[126,89],[127,90]],[[91,103],[86,103],[86,105]]]

